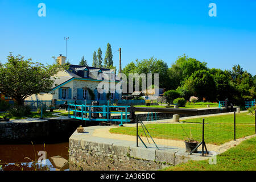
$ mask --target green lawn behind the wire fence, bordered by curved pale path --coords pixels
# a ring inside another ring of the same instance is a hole
[[[205,118],[205,142],[208,144],[223,144],[234,138],[233,114],[220,117]],[[211,120],[210,120],[211,119]],[[255,133],[255,125],[252,125],[254,117],[246,113],[237,114],[236,138],[242,138]],[[192,134],[193,139],[201,141],[202,118],[187,119],[184,123],[151,123],[147,124],[147,130],[154,138],[186,140],[187,135]],[[213,122],[212,122],[213,121]],[[196,123],[192,123],[196,122]],[[249,123],[249,124],[248,124]],[[182,126],[182,127],[181,127]],[[186,133],[184,132],[184,130]],[[110,133],[136,135],[135,127],[118,127],[110,129]],[[139,127],[139,135],[144,136],[142,127]]]

